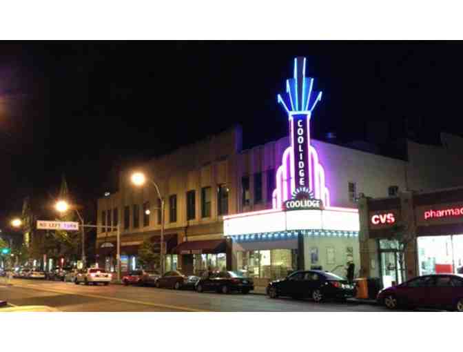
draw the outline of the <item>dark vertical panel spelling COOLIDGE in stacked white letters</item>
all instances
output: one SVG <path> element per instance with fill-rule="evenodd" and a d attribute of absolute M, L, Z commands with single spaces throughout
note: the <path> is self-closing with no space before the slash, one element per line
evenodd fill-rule
<path fill-rule="evenodd" d="M 294 166 L 296 170 L 296 188 L 309 187 L 309 146 L 307 145 L 307 115 L 293 115 Z"/>

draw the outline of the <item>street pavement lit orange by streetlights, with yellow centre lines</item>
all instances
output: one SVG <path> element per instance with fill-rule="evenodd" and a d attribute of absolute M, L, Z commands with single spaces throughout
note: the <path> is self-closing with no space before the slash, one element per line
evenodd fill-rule
<path fill-rule="evenodd" d="M 325 302 L 233 293 L 196 293 L 152 287 L 84 286 L 70 282 L 13 279 L 13 286 L 0 285 L 0 300 L 16 306 L 45 305 L 66 312 L 185 312 L 185 311 L 386 311 L 382 306 L 363 303 Z"/>

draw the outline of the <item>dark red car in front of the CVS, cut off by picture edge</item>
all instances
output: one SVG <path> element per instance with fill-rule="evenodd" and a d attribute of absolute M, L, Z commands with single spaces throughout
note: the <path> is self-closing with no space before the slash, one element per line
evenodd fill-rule
<path fill-rule="evenodd" d="M 418 276 L 380 291 L 377 301 L 389 309 L 407 306 L 463 312 L 463 275 Z"/>

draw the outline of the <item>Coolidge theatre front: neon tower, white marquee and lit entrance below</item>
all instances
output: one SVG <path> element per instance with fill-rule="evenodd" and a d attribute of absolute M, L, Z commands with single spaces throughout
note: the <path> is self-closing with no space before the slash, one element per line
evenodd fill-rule
<path fill-rule="evenodd" d="M 224 217 L 232 267 L 255 280 L 310 268 L 345 275 L 348 261 L 360 266 L 358 211 L 331 206 L 328 177 L 311 145 L 310 119 L 322 96 L 312 87 L 305 58 L 295 59 L 294 77 L 278 95 L 288 115 L 290 145 L 276 168 L 272 209 Z"/>

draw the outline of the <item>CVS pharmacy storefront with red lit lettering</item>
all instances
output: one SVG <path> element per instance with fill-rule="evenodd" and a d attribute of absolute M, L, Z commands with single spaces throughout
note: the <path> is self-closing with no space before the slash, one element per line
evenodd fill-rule
<path fill-rule="evenodd" d="M 381 277 L 384 286 L 417 275 L 462 271 L 463 188 L 364 198 L 359 206 L 362 268 Z M 401 268 L 397 240 L 403 237 L 410 242 Z"/>

